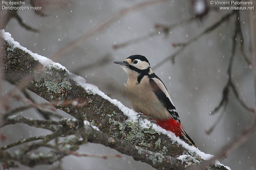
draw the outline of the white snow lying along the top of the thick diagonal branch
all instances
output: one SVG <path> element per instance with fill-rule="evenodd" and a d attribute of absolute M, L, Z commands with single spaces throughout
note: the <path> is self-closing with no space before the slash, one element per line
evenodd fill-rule
<path fill-rule="evenodd" d="M 115 104 L 128 118 L 129 120 L 132 121 L 138 121 L 138 117 L 137 117 L 137 112 L 135 112 L 132 109 L 129 109 L 127 107 L 125 107 L 121 102 L 117 101 L 116 99 L 111 99 L 110 97 L 108 97 L 107 95 L 105 95 L 102 91 L 99 90 L 99 88 L 95 85 L 86 83 L 85 79 L 77 76 L 75 74 L 70 73 L 66 67 L 62 66 L 59 63 L 53 62 L 51 59 L 48 59 L 42 55 L 36 54 L 36 53 L 32 53 L 30 50 L 28 50 L 26 47 L 20 46 L 19 42 L 14 41 L 14 39 L 12 38 L 11 34 L 9 32 L 4 32 L 4 30 L 0 30 L 0 34 L 1 36 L 8 42 L 14 44 L 15 47 L 20 48 L 21 50 L 29 53 L 32 57 L 34 57 L 36 60 L 38 60 L 41 64 L 43 64 L 44 66 L 56 66 L 62 69 L 65 69 L 70 78 L 72 78 L 74 81 L 77 82 L 77 84 L 79 84 L 80 86 L 82 86 L 87 92 L 91 92 L 93 94 L 97 94 L 99 96 L 101 96 L 102 98 L 108 100 L 110 103 Z M 177 142 L 179 145 L 182 145 L 184 148 L 186 148 L 190 153 L 196 153 L 197 155 L 199 155 L 202 159 L 204 160 L 208 160 L 211 159 L 213 157 L 213 155 L 211 154 L 207 154 L 204 153 L 202 151 L 200 151 L 198 148 L 196 148 L 195 146 L 190 146 L 187 143 L 185 143 L 183 140 L 181 140 L 179 137 L 176 137 L 175 134 L 171 131 L 166 131 L 165 129 L 163 129 L 162 127 L 156 125 L 156 124 L 152 124 L 150 121 L 148 121 L 147 119 L 143 119 L 143 120 L 139 120 L 140 124 L 143 128 L 149 128 L 150 126 L 152 126 L 153 129 L 155 129 L 156 131 L 159 131 L 165 135 L 167 135 L 169 138 L 171 138 L 173 141 Z M 91 125 L 90 122 L 88 121 L 84 121 L 84 124 L 86 125 Z M 94 129 L 99 130 L 98 127 L 91 125 Z M 222 165 L 220 164 L 219 161 L 215 161 L 216 164 Z M 228 170 L 231 170 L 228 166 L 225 166 Z"/>

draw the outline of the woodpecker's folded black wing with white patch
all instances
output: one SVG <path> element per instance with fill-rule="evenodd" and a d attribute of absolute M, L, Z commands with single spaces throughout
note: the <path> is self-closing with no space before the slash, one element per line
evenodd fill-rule
<path fill-rule="evenodd" d="M 164 86 L 163 81 L 161 81 L 155 73 L 148 75 L 149 83 L 156 94 L 158 100 L 164 105 L 164 107 L 169 111 L 174 120 L 180 122 L 179 115 L 175 109 L 175 106 L 172 103 L 172 99 L 168 93 L 168 90 Z"/>

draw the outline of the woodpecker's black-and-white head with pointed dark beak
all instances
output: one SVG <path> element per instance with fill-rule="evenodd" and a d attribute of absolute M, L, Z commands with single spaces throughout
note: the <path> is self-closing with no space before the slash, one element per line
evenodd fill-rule
<path fill-rule="evenodd" d="M 119 64 L 128 75 L 153 73 L 148 60 L 142 55 L 131 55 L 124 61 L 114 61 L 114 63 Z"/>

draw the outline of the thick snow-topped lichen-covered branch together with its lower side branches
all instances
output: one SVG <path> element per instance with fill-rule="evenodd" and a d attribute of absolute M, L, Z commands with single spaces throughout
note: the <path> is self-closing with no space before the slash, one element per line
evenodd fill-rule
<path fill-rule="evenodd" d="M 146 162 L 156 169 L 184 169 L 213 157 L 213 155 L 206 154 L 194 146 L 189 146 L 172 132 L 162 129 L 148 119 L 139 118 L 138 113 L 125 107 L 121 102 L 109 98 L 98 87 L 86 83 L 82 77 L 70 73 L 59 63 L 20 46 L 18 42 L 12 39 L 10 33 L 0 30 L 0 34 L 4 39 L 2 52 L 4 78 L 17 84 L 21 90 L 25 87 L 43 97 L 50 102 L 47 106 L 54 106 L 77 118 L 74 120 L 64 118 L 59 122 L 34 120 L 13 115 L 16 112 L 7 110 L 8 116 L 4 117 L 2 126 L 25 123 L 52 131 L 52 134 L 46 135 L 47 138 L 32 137 L 7 145 L 6 147 L 10 148 L 20 143 L 28 143 L 18 149 L 15 154 L 6 151 L 7 149 L 3 149 L 1 146 L 0 161 L 7 166 L 16 165 L 7 160 L 27 166 L 37 165 L 36 163 L 30 164 L 35 162 L 32 160 L 35 157 L 31 156 L 32 153 L 24 152 L 24 148 L 35 150 L 38 147 L 48 147 L 52 149 L 52 152 L 47 154 L 36 155 L 38 164 L 54 163 L 69 154 L 86 155 L 74 153 L 74 151 L 78 149 L 76 146 L 87 141 L 116 149 L 120 153 L 132 156 L 135 160 Z M 28 97 L 15 96 L 12 91 L 7 95 L 4 97 L 7 99 L 15 98 L 28 108 L 40 107 Z M 71 135 L 75 135 L 77 139 L 81 138 L 81 141 L 73 141 L 74 146 L 72 148 L 74 149 L 72 152 L 66 150 L 67 148 L 62 147 L 62 145 L 50 145 L 48 143 L 58 137 L 66 137 L 68 140 Z M 31 142 L 35 140 L 40 141 Z M 28 161 L 19 159 L 20 155 L 17 154 L 23 154 Z M 55 161 L 50 162 L 49 160 Z M 207 167 L 216 170 L 230 169 L 220 164 L 219 161 L 215 161 L 214 164 Z"/>

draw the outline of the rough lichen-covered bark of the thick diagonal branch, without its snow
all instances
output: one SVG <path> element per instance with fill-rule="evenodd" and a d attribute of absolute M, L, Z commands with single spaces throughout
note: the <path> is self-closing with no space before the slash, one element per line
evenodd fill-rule
<path fill-rule="evenodd" d="M 195 165 L 195 159 L 203 161 L 200 156 L 178 145 L 167 135 L 156 132 L 153 129 L 143 129 L 140 127 L 139 122 L 126 121 L 127 116 L 116 105 L 99 95 L 86 91 L 69 76 L 67 70 L 53 66 L 44 68 L 30 54 L 16 48 L 10 42 L 5 40 L 3 42 L 2 67 L 4 77 L 9 81 L 24 85 L 28 90 L 49 102 L 73 99 L 85 101 L 90 99 L 88 105 L 81 108 L 81 112 L 83 118 L 90 121 L 92 125 L 97 126 L 100 131 L 95 131 L 91 128 L 90 134 L 88 135 L 89 142 L 101 143 L 112 147 L 121 153 L 133 156 L 135 160 L 146 162 L 156 169 L 185 169 L 188 166 Z M 28 76 L 35 76 L 35 78 L 29 81 L 29 83 L 24 82 L 24 77 Z M 56 108 L 77 117 L 77 110 L 72 105 L 57 106 Z M 95 135 L 97 136 L 98 133 L 107 135 L 107 138 L 110 138 L 111 135 L 114 141 L 121 142 L 125 145 L 113 146 L 111 143 L 108 143 L 109 140 L 106 142 L 102 138 L 95 138 Z M 138 146 L 143 148 L 141 152 L 138 152 Z M 150 157 L 148 156 L 149 152 L 160 152 L 161 154 L 157 155 L 159 153 L 154 153 L 155 157 Z M 182 154 L 191 155 L 193 159 L 188 158 L 186 161 L 177 159 Z M 2 156 L 8 158 L 9 155 L 2 153 Z M 215 164 L 209 165 L 206 168 L 227 170 L 224 166 Z"/>

